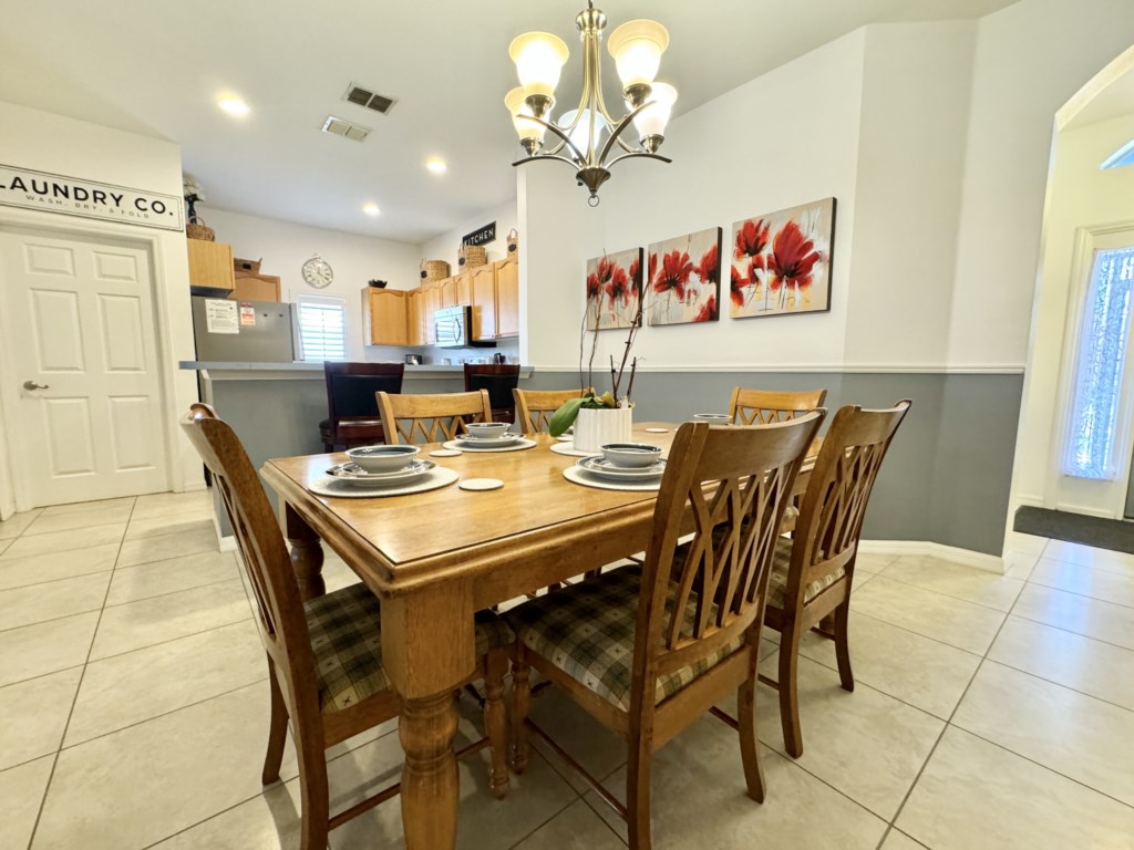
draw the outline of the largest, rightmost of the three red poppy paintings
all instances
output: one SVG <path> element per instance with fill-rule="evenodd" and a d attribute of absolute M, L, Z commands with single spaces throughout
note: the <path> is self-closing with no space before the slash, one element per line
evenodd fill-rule
<path fill-rule="evenodd" d="M 729 309 L 734 318 L 831 308 L 835 198 L 733 226 Z"/>

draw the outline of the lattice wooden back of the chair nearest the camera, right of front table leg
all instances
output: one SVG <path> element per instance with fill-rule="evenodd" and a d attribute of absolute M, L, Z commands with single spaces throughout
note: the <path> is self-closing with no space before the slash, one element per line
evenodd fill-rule
<path fill-rule="evenodd" d="M 759 628 L 780 519 L 824 414 L 678 428 L 643 564 L 631 716 L 652 711 L 658 675 Z"/>

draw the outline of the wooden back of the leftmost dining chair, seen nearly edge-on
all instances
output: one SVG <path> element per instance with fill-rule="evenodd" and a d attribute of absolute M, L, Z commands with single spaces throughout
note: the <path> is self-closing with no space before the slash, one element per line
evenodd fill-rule
<path fill-rule="evenodd" d="M 288 697 L 294 732 L 321 736 L 315 657 L 299 583 L 260 476 L 231 426 L 209 405 L 192 405 L 181 428 L 228 511 L 256 600 L 260 637 Z"/>

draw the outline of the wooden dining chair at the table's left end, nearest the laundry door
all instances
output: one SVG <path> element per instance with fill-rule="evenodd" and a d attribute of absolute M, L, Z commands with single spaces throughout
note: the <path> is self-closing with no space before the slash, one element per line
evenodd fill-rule
<path fill-rule="evenodd" d="M 382 665 L 378 597 L 358 583 L 304 602 L 276 515 L 236 433 L 201 403 L 191 406 L 181 426 L 220 490 L 256 602 L 271 691 L 261 781 L 268 785 L 279 779 L 290 723 L 299 762 L 301 847 L 325 850 L 330 830 L 399 791 L 395 784 L 330 814 L 325 750 L 398 716 L 398 695 Z M 479 662 L 468 681 L 484 679 L 488 738 L 457 755 L 488 742 L 489 785 L 502 798 L 508 789 L 503 675 L 514 635 L 489 613 L 477 614 L 475 634 Z"/>

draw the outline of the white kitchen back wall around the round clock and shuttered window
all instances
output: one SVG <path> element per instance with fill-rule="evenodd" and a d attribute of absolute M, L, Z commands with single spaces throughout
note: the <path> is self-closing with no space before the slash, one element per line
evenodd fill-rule
<path fill-rule="evenodd" d="M 415 288 L 421 258 L 417 245 L 213 210 L 208 205 L 198 206 L 197 214 L 217 231 L 217 241 L 232 246 L 234 256 L 263 257 L 260 271 L 279 275 L 285 301 L 295 301 L 299 295 L 330 295 L 346 300 L 350 359 L 403 359 L 401 349 L 363 345 L 361 292 L 372 279 L 387 281 L 390 289 Z M 315 253 L 335 270 L 335 280 L 325 289 L 312 289 L 303 280 L 303 264 Z"/>

